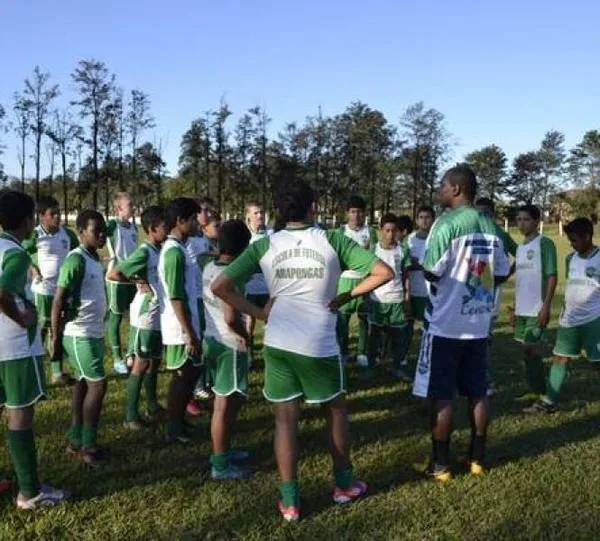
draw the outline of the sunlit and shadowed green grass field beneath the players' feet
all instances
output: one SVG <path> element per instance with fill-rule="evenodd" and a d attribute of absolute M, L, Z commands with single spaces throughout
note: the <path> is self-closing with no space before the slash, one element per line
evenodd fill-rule
<path fill-rule="evenodd" d="M 561 239 L 561 286 L 567 249 Z M 509 284 L 505 304 L 511 294 Z M 562 287 L 553 327 L 561 296 Z M 548 351 L 553 338 L 548 332 Z M 416 344 L 413 359 L 415 354 Z M 351 369 L 352 454 L 356 473 L 369 483 L 369 496 L 348 507 L 334 506 L 324 422 L 318 408 L 307 407 L 301 425 L 303 520 L 297 524 L 283 523 L 275 509 L 273 418 L 260 393 L 261 374 L 252 375 L 251 398 L 234 441 L 252 451 L 256 473 L 237 483 L 209 479 L 207 417 L 198 422 L 197 442 L 189 447 L 165 446 L 159 427 L 125 432 L 123 379 L 109 381 L 100 430 L 111 460 L 101 470 L 86 469 L 63 451 L 70 393 L 52 389 L 50 400 L 37 411 L 41 475 L 73 490 L 76 498 L 60 508 L 28 514 L 16 511 L 4 496 L 0 539 L 597 539 L 600 374 L 585 361 L 574 363 L 561 411 L 527 417 L 515 400 L 524 390 L 520 358 L 503 313 L 493 347 L 499 394 L 493 399 L 489 431 L 491 470 L 484 478 L 463 473 L 469 436 L 462 403 L 453 438 L 458 475 L 445 486 L 424 481 L 415 469 L 429 453 L 425 403 L 411 397 L 408 385 L 392 381 L 386 367 L 368 387 Z M 162 375 L 163 398 L 167 383 Z M 9 467 L 3 451 L 0 468 Z"/>

